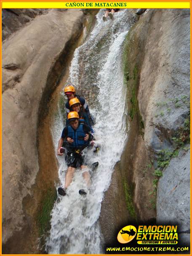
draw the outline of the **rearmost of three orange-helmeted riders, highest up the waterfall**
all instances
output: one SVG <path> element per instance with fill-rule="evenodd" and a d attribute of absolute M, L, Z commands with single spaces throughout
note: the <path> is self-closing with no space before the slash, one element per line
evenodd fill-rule
<path fill-rule="evenodd" d="M 82 105 L 82 107 L 85 109 L 85 112 L 88 114 L 88 118 L 89 118 L 89 122 L 90 122 L 91 126 L 93 126 L 94 122 L 93 122 L 93 118 L 91 117 L 91 114 L 89 112 L 87 102 L 85 101 L 85 99 L 83 97 L 80 97 L 79 95 L 75 94 L 75 87 L 73 85 L 67 85 L 64 88 L 64 94 L 67 96 L 67 102 L 65 103 L 65 109 L 66 109 L 67 115 L 70 112 L 69 100 L 77 98 L 80 101 L 80 104 Z"/>

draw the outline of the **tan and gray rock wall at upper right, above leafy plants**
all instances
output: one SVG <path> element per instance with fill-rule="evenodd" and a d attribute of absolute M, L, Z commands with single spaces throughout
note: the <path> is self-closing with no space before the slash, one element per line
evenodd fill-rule
<path fill-rule="evenodd" d="M 189 17 L 190 11 L 186 9 L 150 10 L 138 22 L 141 31 L 148 35 L 147 41 L 145 34 L 140 35 L 140 41 L 145 44 L 145 57 L 138 101 L 145 124 L 144 140 L 152 150 L 154 145 L 154 149 L 161 146 L 154 137 L 157 128 L 161 141 L 170 140 L 189 116 Z M 149 19 L 150 26 L 144 28 L 144 22 Z"/>

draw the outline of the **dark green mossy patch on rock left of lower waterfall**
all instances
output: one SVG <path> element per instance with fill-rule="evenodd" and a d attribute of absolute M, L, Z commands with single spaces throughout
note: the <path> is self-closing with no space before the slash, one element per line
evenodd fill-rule
<path fill-rule="evenodd" d="M 40 208 L 37 212 L 37 225 L 39 227 L 39 235 L 43 236 L 50 229 L 51 210 L 57 198 L 56 190 L 51 188 L 45 193 Z"/>

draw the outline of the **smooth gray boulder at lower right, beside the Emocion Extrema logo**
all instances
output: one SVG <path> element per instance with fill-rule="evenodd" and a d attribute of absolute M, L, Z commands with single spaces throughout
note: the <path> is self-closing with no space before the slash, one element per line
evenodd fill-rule
<path fill-rule="evenodd" d="M 189 147 L 190 145 L 187 145 Z M 190 242 L 190 150 L 181 150 L 159 179 L 157 222 L 178 223 L 179 240 Z"/>

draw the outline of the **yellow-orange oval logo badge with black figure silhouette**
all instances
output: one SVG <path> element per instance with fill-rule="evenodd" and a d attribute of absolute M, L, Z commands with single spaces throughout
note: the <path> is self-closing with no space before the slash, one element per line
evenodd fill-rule
<path fill-rule="evenodd" d="M 136 234 L 137 234 L 136 227 L 129 225 L 129 226 L 122 228 L 119 231 L 119 233 L 117 235 L 117 240 L 122 244 L 126 244 L 128 242 L 131 242 L 131 240 L 133 240 L 133 238 L 136 236 Z"/>

